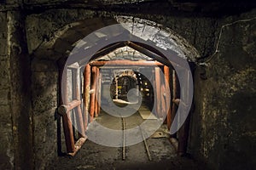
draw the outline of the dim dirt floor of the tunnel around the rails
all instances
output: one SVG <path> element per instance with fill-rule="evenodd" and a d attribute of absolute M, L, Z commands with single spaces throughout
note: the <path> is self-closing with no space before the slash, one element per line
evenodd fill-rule
<path fill-rule="evenodd" d="M 152 120 L 154 121 L 158 120 Z M 110 116 L 103 111 L 95 122 L 112 129 L 123 127 L 120 117 Z M 143 118 L 137 112 L 125 117 L 125 128 L 136 127 L 142 122 Z M 88 131 L 95 133 L 96 129 L 97 126 L 92 123 Z M 205 169 L 200 162 L 177 156 L 169 139 L 166 138 L 168 137 L 165 133 L 166 126 L 161 126 L 157 132 L 161 132 L 160 138 L 146 139 L 151 161 L 148 159 L 143 141 L 125 147 L 125 160 L 123 160 L 122 147 L 108 147 L 87 139 L 76 156 L 60 156 L 49 165 L 48 169 Z M 113 142 L 122 143 L 122 138 L 113 139 Z"/>

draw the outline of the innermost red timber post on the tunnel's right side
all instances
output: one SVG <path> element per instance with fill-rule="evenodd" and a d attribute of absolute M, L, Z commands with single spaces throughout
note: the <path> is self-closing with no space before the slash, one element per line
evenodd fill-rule
<path fill-rule="evenodd" d="M 160 67 L 154 67 L 154 74 L 155 74 L 155 90 L 156 90 L 156 100 L 154 102 L 156 105 L 156 112 L 159 117 L 162 117 L 161 113 L 161 79 L 160 79 Z"/>

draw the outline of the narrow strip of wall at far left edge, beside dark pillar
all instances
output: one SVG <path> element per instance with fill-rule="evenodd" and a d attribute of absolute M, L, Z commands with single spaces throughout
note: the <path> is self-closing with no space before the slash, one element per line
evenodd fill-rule
<path fill-rule="evenodd" d="M 11 120 L 10 66 L 7 44 L 7 14 L 0 13 L 0 169 L 14 166 L 14 145 Z"/>

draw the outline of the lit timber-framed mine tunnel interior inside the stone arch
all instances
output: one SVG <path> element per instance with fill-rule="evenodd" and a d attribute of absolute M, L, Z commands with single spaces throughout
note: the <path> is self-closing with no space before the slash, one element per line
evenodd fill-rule
<path fill-rule="evenodd" d="M 86 44 L 86 38 L 83 41 Z M 113 48 L 117 44 L 118 47 Z M 172 66 L 177 65 L 175 62 L 153 47 L 137 42 L 116 42 L 100 49 L 88 63 L 84 64 L 83 58 L 81 60 L 67 61 L 69 65 L 61 69 L 62 76 L 59 75 L 62 101 L 58 114 L 63 122 L 62 139 L 65 140 L 61 145 L 59 129 L 60 152 L 64 145 L 67 156 L 76 159 L 77 152 L 86 154 L 89 151 L 86 140 L 116 147 L 118 149 L 113 148 L 106 154 L 119 157 L 114 165 L 117 168 L 155 167 L 176 154 L 186 155 L 189 117 L 183 119 L 183 115 L 177 114 L 181 88 Z M 177 65 L 177 71 L 192 80 L 188 76 L 190 70 L 182 65 Z M 183 89 L 183 94 L 193 93 L 189 88 Z M 171 127 L 177 126 L 173 123 L 176 115 L 178 123 L 183 125 L 170 133 Z M 105 159 L 96 144 L 90 144 L 90 150 L 95 150 L 101 160 Z M 98 162 L 97 168 L 106 163 L 114 162 Z M 167 164 L 175 167 L 172 161 Z M 198 166 L 193 162 L 190 164 Z M 102 168 L 107 167 L 111 168 L 106 165 Z"/>

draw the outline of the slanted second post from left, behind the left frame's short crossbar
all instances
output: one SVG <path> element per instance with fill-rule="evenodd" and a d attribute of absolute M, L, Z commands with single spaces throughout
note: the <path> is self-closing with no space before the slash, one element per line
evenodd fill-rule
<path fill-rule="evenodd" d="M 75 97 L 76 99 L 81 100 L 81 92 L 80 92 L 80 69 L 78 68 L 76 70 L 76 81 L 75 81 L 75 89 L 76 89 L 76 94 Z M 82 104 L 81 104 L 82 105 Z M 77 107 L 77 115 L 76 115 L 76 121 L 78 124 L 78 130 L 79 130 L 79 138 L 85 137 L 84 133 L 84 120 L 83 120 L 83 115 L 82 115 L 82 110 L 81 110 L 81 105 Z"/>

